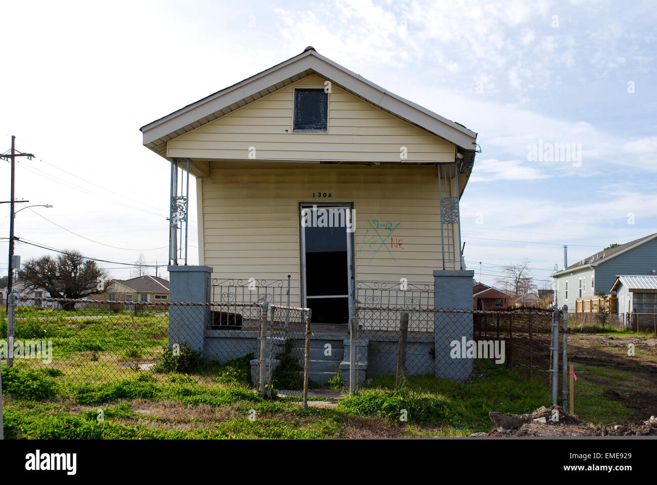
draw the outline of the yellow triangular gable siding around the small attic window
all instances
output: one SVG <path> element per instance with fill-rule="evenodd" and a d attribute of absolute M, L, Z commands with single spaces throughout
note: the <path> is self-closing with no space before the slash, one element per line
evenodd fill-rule
<path fill-rule="evenodd" d="M 333 85 L 328 133 L 293 133 L 295 87 L 324 87 L 307 76 L 168 141 L 167 156 L 214 160 L 453 162 L 455 146 Z M 287 131 L 287 133 L 286 133 Z M 411 198 L 415 198 L 411 196 Z"/>

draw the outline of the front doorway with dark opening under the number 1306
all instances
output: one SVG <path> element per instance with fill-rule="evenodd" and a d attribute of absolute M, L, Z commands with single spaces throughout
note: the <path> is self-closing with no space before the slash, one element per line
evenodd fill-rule
<path fill-rule="evenodd" d="M 325 206 L 316 207 L 316 210 L 317 216 L 309 216 L 307 211 L 313 212 L 309 207 L 302 208 L 300 214 L 305 305 L 312 310 L 313 323 L 346 324 L 349 321 L 351 232 L 344 221 L 350 220 L 346 219 L 350 217 L 346 216 L 350 208 Z M 311 224 L 308 225 L 308 221 Z"/>

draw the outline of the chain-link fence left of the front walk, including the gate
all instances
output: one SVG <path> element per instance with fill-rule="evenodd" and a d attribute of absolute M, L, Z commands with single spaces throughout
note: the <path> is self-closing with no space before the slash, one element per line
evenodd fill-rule
<path fill-rule="evenodd" d="M 47 308 L 11 300 L 0 320 L 0 359 L 8 367 L 64 377 L 72 386 L 141 379 L 239 385 L 270 397 L 275 390 L 275 398 L 307 394 L 307 308 L 45 298 Z"/>

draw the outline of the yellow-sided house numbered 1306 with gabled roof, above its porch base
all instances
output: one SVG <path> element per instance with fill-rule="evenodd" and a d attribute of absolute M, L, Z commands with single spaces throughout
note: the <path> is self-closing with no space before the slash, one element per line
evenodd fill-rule
<path fill-rule="evenodd" d="M 346 323 L 359 282 L 433 285 L 434 270 L 464 269 L 476 133 L 312 47 L 141 131 L 171 164 L 172 266 L 187 264 L 196 183 L 213 281 L 290 275 L 289 302 L 313 321 Z"/>

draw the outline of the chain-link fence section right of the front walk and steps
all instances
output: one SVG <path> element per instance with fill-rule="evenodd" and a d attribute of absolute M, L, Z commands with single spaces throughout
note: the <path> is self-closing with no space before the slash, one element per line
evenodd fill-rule
<path fill-rule="evenodd" d="M 394 376 L 438 378 L 491 391 L 525 381 L 549 403 L 553 372 L 552 310 L 507 312 L 358 306 L 355 392 L 364 381 Z M 522 396 L 518 396 L 522 399 Z"/>

